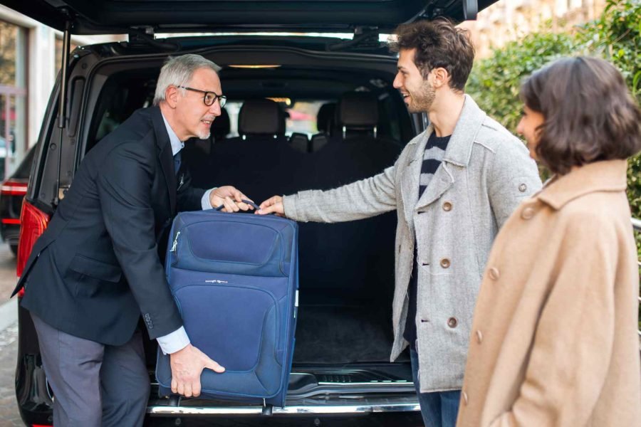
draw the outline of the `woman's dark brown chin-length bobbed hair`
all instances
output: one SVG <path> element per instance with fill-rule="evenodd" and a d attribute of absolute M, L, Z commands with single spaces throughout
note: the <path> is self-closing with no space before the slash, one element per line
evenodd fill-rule
<path fill-rule="evenodd" d="M 555 174 L 641 151 L 641 110 L 603 59 L 556 60 L 523 82 L 521 100 L 544 117 L 536 155 Z"/>

